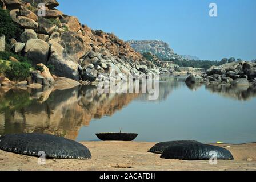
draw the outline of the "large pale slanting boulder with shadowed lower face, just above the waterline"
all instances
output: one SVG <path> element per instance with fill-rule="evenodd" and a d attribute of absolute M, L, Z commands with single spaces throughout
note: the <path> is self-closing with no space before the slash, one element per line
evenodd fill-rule
<path fill-rule="evenodd" d="M 51 44 L 50 58 L 47 64 L 54 66 L 55 75 L 79 80 L 78 64 L 70 59 L 66 50 L 60 44 Z"/>

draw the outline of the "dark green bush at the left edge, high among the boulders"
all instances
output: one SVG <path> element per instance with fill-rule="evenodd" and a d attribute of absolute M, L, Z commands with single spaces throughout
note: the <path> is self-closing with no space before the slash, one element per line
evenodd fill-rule
<path fill-rule="evenodd" d="M 6 39 L 17 38 L 22 30 L 13 22 L 9 11 L 0 8 L 0 35 L 5 35 Z"/>

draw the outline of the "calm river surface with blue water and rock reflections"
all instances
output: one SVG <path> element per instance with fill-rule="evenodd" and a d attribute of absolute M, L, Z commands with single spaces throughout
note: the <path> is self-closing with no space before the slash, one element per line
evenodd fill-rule
<path fill-rule="evenodd" d="M 139 133 L 137 141 L 256 141 L 256 89 L 184 81 L 185 77 L 163 76 L 156 101 L 148 100 L 147 94 L 98 94 L 94 86 L 0 88 L 0 135 L 37 132 L 84 141 L 122 128 Z"/>

